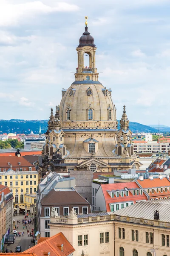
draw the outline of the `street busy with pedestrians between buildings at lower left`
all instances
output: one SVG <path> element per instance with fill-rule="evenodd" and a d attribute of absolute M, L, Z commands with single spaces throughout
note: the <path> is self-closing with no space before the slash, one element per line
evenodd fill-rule
<path fill-rule="evenodd" d="M 28 217 L 26 218 L 27 220 L 29 220 L 31 218 L 30 215 L 28 215 Z M 15 237 L 15 242 L 14 244 L 5 244 L 5 248 L 7 248 L 8 250 L 12 250 L 12 252 L 14 253 L 15 252 L 15 249 L 18 245 L 21 246 L 21 249 L 22 249 L 22 252 L 27 250 L 29 248 L 29 246 L 34 246 L 31 244 L 31 240 L 33 239 L 33 237 L 27 235 L 27 230 L 29 230 L 29 232 L 31 231 L 32 228 L 34 228 L 34 225 L 31 223 L 30 224 L 30 228 L 28 227 L 28 224 L 27 225 L 24 225 L 24 229 L 23 229 L 23 219 L 24 219 L 24 215 L 19 215 L 19 216 L 14 216 L 14 220 L 15 220 L 15 224 L 17 226 L 17 221 L 20 221 L 21 223 L 18 224 L 18 229 L 16 228 L 16 230 L 18 232 L 21 232 L 21 236 L 16 236 Z M 33 218 L 31 218 L 32 222 L 33 222 Z M 26 229 L 26 226 L 27 226 L 27 229 Z M 15 227 L 14 227 L 15 228 Z M 22 232 L 24 231 L 24 236 L 22 236 Z"/>

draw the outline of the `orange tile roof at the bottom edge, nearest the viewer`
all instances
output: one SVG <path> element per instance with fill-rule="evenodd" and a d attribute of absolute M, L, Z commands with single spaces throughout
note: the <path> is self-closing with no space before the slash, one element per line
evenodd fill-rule
<path fill-rule="evenodd" d="M 59 245 L 64 245 L 64 250 L 61 251 Z M 25 253 L 36 253 L 37 256 L 44 256 L 43 252 L 50 252 L 50 256 L 67 256 L 75 251 L 74 247 L 69 243 L 62 232 L 52 236 L 45 241 L 26 250 Z M 17 254 L 18 255 L 18 254 Z"/>

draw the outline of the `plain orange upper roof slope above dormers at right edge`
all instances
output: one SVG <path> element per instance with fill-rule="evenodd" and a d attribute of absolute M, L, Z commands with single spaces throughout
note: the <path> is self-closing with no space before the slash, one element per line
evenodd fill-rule
<path fill-rule="evenodd" d="M 157 178 L 157 179 L 153 179 L 153 180 L 150 180 L 150 179 L 138 180 L 138 183 L 144 189 L 170 186 L 170 181 L 167 179 L 167 177 L 165 177 L 163 179 Z"/>

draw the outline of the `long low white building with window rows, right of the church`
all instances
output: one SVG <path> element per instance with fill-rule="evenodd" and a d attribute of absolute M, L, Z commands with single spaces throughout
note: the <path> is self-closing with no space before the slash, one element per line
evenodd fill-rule
<path fill-rule="evenodd" d="M 150 141 L 146 143 L 132 143 L 135 153 L 159 153 L 159 143 Z M 169 143 L 160 143 L 160 153 L 168 153 Z"/>

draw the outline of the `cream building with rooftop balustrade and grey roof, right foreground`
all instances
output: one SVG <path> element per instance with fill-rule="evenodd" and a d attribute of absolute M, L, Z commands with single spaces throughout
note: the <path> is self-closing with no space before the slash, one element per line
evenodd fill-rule
<path fill-rule="evenodd" d="M 114 214 L 71 212 L 67 218 L 51 217 L 50 236 L 61 231 L 74 256 L 82 250 L 87 256 L 170 256 L 169 209 L 166 199 L 141 201 Z"/>

